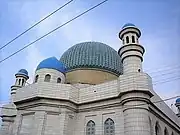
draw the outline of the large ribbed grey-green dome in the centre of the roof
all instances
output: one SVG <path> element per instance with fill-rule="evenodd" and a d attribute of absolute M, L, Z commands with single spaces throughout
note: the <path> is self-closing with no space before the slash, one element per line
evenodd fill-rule
<path fill-rule="evenodd" d="M 110 46 L 100 42 L 83 42 L 69 48 L 60 58 L 67 71 L 77 68 L 95 68 L 122 73 L 121 59 Z"/>

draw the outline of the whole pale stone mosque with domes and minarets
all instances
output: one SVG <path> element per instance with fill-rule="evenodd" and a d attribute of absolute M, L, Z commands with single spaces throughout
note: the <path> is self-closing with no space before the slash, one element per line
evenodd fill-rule
<path fill-rule="evenodd" d="M 28 72 L 19 70 L 11 102 L 1 112 L 1 135 L 180 135 L 175 114 L 143 72 L 141 31 L 125 24 L 118 51 L 100 42 L 69 48 Z"/>

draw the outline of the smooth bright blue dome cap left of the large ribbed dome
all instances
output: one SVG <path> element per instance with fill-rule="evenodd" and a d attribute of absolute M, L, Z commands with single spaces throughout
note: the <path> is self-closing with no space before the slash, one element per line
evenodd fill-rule
<path fill-rule="evenodd" d="M 62 73 L 66 72 L 65 65 L 62 62 L 58 61 L 58 59 L 56 59 L 55 57 L 50 57 L 41 61 L 37 66 L 36 71 L 42 68 L 55 69 Z"/>

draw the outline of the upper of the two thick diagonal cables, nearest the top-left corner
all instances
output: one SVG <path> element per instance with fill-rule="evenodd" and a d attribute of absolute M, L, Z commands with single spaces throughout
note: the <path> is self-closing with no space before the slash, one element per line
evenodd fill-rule
<path fill-rule="evenodd" d="M 48 14 L 46 17 L 44 17 L 43 19 L 41 19 L 40 21 L 36 22 L 34 25 L 32 25 L 31 27 L 29 27 L 27 30 L 25 30 L 24 32 L 20 33 L 19 35 L 17 35 L 15 38 L 13 38 L 12 40 L 10 40 L 9 42 L 7 42 L 5 45 L 3 45 L 2 47 L 0 47 L 0 50 L 2 50 L 3 48 L 5 48 L 6 46 L 8 46 L 10 43 L 12 43 L 13 41 L 15 41 L 16 39 L 18 39 L 19 37 L 21 37 L 22 35 L 24 35 L 25 33 L 27 33 L 29 30 L 31 30 L 32 28 L 34 28 L 35 26 L 37 26 L 38 24 L 40 24 L 41 22 L 43 22 L 44 20 L 46 20 L 47 18 L 49 18 L 50 16 L 52 16 L 53 14 L 55 14 L 56 12 L 58 12 L 59 10 L 61 10 L 62 8 L 64 8 L 65 6 L 67 6 L 68 4 L 70 4 L 73 0 L 68 1 L 67 3 L 65 3 L 64 5 L 62 5 L 61 7 L 59 7 L 58 9 L 54 10 L 53 12 L 51 12 L 50 14 Z"/>

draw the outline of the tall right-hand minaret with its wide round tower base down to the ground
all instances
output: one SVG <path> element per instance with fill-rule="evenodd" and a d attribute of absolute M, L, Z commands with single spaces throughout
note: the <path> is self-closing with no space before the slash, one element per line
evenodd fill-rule
<path fill-rule="evenodd" d="M 123 64 L 123 74 L 119 76 L 121 103 L 124 115 L 124 135 L 151 135 L 149 102 L 151 78 L 142 72 L 144 47 L 139 44 L 140 30 L 131 23 L 122 27 L 119 38 L 122 46 L 118 53 Z"/>

